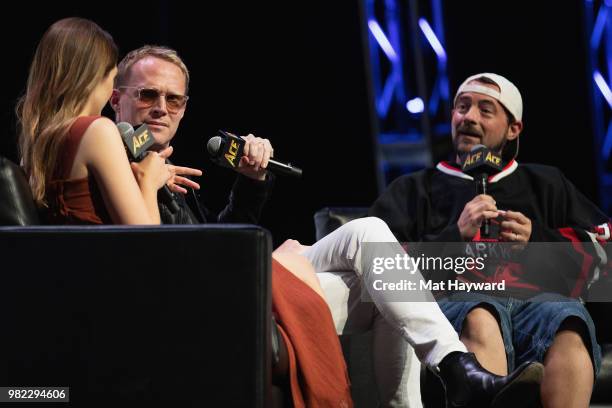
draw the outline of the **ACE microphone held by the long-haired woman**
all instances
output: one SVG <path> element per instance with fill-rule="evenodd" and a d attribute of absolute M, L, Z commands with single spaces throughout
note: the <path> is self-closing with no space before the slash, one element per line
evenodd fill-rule
<path fill-rule="evenodd" d="M 125 146 L 125 150 L 128 153 L 130 161 L 141 161 L 149 148 L 155 143 L 155 139 L 151 135 L 146 124 L 143 124 L 134 130 L 132 125 L 127 122 L 117 123 L 117 128 L 121 134 L 121 139 Z M 164 185 L 158 191 L 160 200 L 172 211 L 176 213 L 179 211 L 178 203 L 174 197 L 174 194 L 167 185 Z"/>

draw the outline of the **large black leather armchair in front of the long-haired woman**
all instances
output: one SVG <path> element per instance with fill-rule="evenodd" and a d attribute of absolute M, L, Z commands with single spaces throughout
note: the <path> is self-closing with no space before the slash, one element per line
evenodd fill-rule
<path fill-rule="evenodd" d="M 74 407 L 283 406 L 268 231 L 38 223 L 0 158 L 0 384 L 70 387 Z"/>

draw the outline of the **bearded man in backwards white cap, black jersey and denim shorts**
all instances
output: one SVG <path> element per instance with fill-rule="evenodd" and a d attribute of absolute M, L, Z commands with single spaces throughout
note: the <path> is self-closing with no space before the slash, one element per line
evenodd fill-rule
<path fill-rule="evenodd" d="M 522 113 L 521 94 L 506 78 L 483 73 L 466 79 L 452 110 L 454 160 L 398 178 L 370 215 L 383 219 L 400 242 L 481 241 L 487 220 L 498 222 L 496 240 L 512 245 L 610 240 L 609 217 L 558 169 L 517 163 Z M 488 178 L 487 194 L 476 194 L 474 179 L 462 172 L 463 158 L 477 145 L 505 159 Z M 555 272 L 546 271 L 553 274 L 547 279 L 556 279 Z M 468 275 L 462 279 L 475 280 Z M 529 273 L 505 271 L 501 278 L 522 296 L 462 292 L 440 301 L 461 340 L 499 375 L 523 361 L 542 362 L 545 407 L 588 406 L 601 351 L 592 319 L 575 299 L 585 280 L 561 293 Z"/>

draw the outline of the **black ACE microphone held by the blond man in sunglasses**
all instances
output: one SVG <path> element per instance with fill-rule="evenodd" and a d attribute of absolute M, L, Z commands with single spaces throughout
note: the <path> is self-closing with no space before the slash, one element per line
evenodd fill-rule
<path fill-rule="evenodd" d="M 222 136 L 211 137 L 206 145 L 206 150 L 208 150 L 208 154 L 214 163 L 235 170 L 240 163 L 240 159 L 244 156 L 246 140 L 223 130 L 219 130 L 219 133 Z M 293 166 L 291 163 L 281 163 L 272 159 L 268 160 L 267 170 L 293 177 L 302 176 L 302 169 Z"/>

